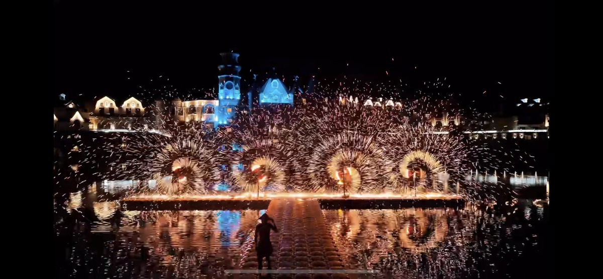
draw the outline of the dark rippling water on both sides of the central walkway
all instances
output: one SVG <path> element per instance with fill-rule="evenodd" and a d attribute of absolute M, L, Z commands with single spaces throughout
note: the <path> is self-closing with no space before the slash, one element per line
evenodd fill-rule
<path fill-rule="evenodd" d="M 109 196 L 55 194 L 55 278 L 219 278 L 239 268 L 262 214 L 120 211 Z M 345 267 L 377 278 L 549 277 L 548 205 L 534 200 L 323 214 Z"/>

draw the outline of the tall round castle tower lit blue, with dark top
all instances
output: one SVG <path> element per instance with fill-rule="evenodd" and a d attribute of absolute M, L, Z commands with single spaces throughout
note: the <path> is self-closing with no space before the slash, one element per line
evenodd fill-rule
<path fill-rule="evenodd" d="M 222 65 L 218 66 L 218 100 L 219 106 L 216 116 L 216 126 L 227 125 L 232 122 L 236 107 L 241 101 L 241 77 L 239 71 L 238 53 L 221 53 Z"/>

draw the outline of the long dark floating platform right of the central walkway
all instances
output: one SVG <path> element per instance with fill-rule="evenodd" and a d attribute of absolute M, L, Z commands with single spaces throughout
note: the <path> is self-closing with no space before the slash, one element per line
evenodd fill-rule
<path fill-rule="evenodd" d="M 367 199 L 349 197 L 347 199 L 318 199 L 323 209 L 399 209 L 399 208 L 464 208 L 463 197 L 438 198 L 387 198 Z"/>

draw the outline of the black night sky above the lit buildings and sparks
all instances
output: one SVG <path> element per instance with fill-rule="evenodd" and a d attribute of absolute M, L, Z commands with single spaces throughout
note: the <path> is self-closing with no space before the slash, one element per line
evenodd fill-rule
<path fill-rule="evenodd" d="M 139 94 L 139 86 L 210 89 L 218 53 L 234 50 L 246 80 L 274 66 L 289 79 L 420 85 L 446 77 L 466 98 L 548 99 L 548 2 L 485 2 L 326 11 L 303 2 L 55 1 L 54 93 L 119 98 Z"/>

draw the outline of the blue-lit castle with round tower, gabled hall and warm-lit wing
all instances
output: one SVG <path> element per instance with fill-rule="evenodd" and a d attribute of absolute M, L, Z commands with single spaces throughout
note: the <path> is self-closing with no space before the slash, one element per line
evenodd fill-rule
<path fill-rule="evenodd" d="M 241 98 L 241 66 L 238 53 L 221 53 L 222 65 L 218 66 L 218 100 L 172 101 L 175 118 L 183 123 L 203 123 L 207 129 L 227 126 L 235 120 L 236 111 L 251 111 L 257 106 L 294 104 L 295 86 L 289 90 L 276 75 L 268 78 L 263 86 L 256 85 L 256 75 L 244 99 Z"/>

